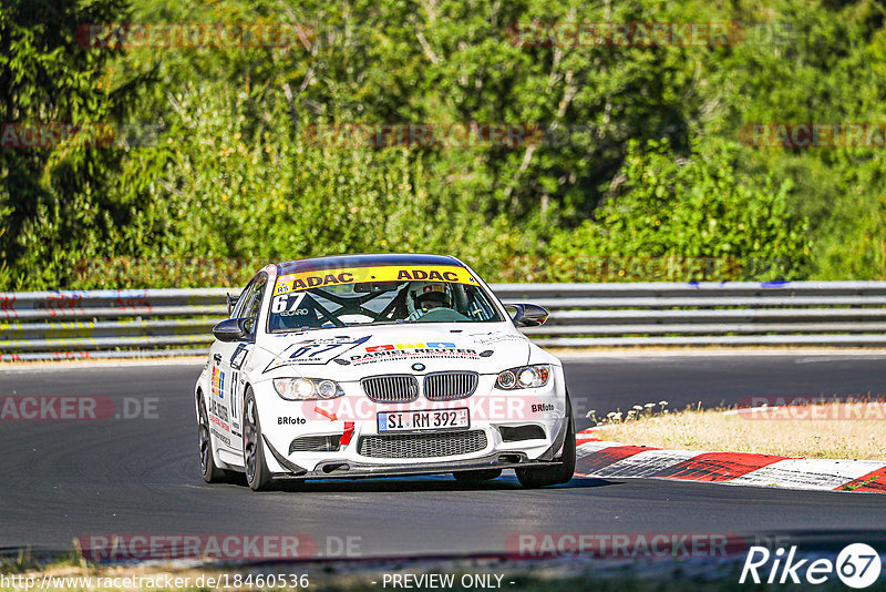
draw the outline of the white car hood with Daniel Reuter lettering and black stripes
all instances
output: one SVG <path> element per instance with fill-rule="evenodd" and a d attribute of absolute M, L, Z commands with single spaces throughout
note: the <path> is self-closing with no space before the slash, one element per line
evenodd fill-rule
<path fill-rule="evenodd" d="M 414 371 L 497 374 L 527 364 L 530 348 L 528 338 L 502 324 L 347 327 L 267 335 L 258 345 L 255 361 L 265 376 L 341 381 Z"/>

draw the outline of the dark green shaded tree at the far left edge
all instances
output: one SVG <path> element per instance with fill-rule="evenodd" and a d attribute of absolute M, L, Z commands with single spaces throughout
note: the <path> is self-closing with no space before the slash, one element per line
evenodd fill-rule
<path fill-rule="evenodd" d="M 76 42 L 82 23 L 126 20 L 124 0 L 4 0 L 0 6 L 0 259 L 9 287 L 63 285 L 74 254 L 114 242 L 133 204 L 105 191 L 122 153 L 61 142 L 48 132 L 41 147 L 24 146 L 24 129 L 114 125 L 126 116 L 141 82 L 107 88 L 113 51 Z M 10 147 L 19 145 L 19 147 Z"/>

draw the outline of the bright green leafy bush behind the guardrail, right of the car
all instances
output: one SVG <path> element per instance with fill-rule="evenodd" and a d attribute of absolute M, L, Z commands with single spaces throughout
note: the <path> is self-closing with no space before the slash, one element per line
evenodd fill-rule
<path fill-rule="evenodd" d="M 554 278 L 599 279 L 590 262 L 606 257 L 670 259 L 672 277 L 661 279 L 796 278 L 810 245 L 805 221 L 792 220 L 787 210 L 791 184 L 741 178 L 733 165 L 739 152 L 727 144 L 674 159 L 667 142 L 649 142 L 646 150 L 631 142 L 595 220 L 555 237 Z M 708 269 L 687 266 L 687 257 L 720 262 L 717 271 L 735 275 L 704 277 Z"/>

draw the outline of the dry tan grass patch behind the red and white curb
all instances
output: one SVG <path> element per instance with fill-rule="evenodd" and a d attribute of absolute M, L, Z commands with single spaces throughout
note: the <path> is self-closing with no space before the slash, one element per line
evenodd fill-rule
<path fill-rule="evenodd" d="M 601 439 L 637 446 L 886 460 L 886 404 L 879 401 L 756 410 L 663 410 L 624 422 L 610 417 L 604 425 Z"/>

